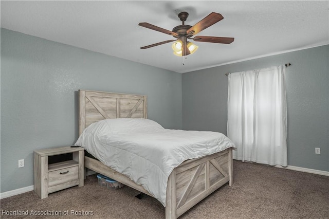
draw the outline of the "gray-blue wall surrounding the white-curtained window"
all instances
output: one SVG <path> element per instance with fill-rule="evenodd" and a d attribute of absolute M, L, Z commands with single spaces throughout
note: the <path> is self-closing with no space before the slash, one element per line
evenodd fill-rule
<path fill-rule="evenodd" d="M 286 69 L 288 165 L 329 171 L 329 46 L 183 74 L 183 129 L 226 134 L 227 72 L 291 63 Z M 321 148 L 321 154 L 315 154 Z"/>

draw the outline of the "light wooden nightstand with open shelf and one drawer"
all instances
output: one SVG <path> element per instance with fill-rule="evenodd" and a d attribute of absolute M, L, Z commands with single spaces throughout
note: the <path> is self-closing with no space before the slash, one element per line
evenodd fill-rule
<path fill-rule="evenodd" d="M 72 153 L 72 159 L 48 165 L 48 157 Z M 34 192 L 41 198 L 72 186 L 83 186 L 84 149 L 51 148 L 34 151 Z"/>

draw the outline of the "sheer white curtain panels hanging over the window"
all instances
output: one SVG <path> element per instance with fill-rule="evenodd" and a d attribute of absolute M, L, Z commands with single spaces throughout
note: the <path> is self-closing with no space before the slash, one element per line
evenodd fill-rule
<path fill-rule="evenodd" d="M 227 136 L 233 159 L 287 166 L 285 67 L 228 76 Z"/>

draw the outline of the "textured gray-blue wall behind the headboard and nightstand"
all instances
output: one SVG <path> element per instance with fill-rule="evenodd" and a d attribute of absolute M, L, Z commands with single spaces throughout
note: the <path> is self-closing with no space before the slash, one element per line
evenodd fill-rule
<path fill-rule="evenodd" d="M 181 74 L 1 29 L 1 192 L 33 185 L 34 150 L 75 143 L 79 89 L 147 95 L 182 128 Z"/>

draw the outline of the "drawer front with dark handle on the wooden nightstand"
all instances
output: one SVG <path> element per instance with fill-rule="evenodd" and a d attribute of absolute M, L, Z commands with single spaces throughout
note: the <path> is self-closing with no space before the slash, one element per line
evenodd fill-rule
<path fill-rule="evenodd" d="M 79 178 L 78 166 L 48 172 L 48 187 Z"/>

